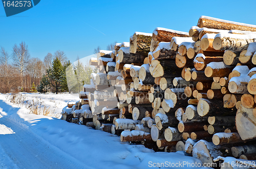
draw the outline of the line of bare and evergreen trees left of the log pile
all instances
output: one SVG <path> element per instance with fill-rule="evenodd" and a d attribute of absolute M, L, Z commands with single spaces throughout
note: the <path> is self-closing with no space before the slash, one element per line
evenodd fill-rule
<path fill-rule="evenodd" d="M 1 46 L 0 70 L 1 93 L 79 92 L 84 84 L 90 84 L 90 75 L 96 71 L 79 60 L 73 65 L 59 50 L 48 53 L 44 62 L 30 57 L 25 42 L 14 44 L 11 54 Z"/>

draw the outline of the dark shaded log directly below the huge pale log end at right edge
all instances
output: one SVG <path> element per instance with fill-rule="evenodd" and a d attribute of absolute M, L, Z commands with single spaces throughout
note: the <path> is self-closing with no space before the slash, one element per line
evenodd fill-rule
<path fill-rule="evenodd" d="M 242 154 L 247 155 L 247 154 L 256 153 L 256 145 L 250 144 L 250 145 L 232 147 L 231 152 L 233 157 L 239 157 Z"/>

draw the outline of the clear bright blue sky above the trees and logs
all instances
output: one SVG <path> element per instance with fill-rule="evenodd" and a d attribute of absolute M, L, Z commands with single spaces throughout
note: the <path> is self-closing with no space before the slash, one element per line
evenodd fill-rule
<path fill-rule="evenodd" d="M 32 9 L 6 17 L 0 4 L 0 46 L 12 53 L 25 41 L 31 57 L 64 51 L 71 62 L 134 32 L 156 27 L 188 32 L 201 15 L 256 25 L 256 1 L 67 1 L 41 0 Z"/>

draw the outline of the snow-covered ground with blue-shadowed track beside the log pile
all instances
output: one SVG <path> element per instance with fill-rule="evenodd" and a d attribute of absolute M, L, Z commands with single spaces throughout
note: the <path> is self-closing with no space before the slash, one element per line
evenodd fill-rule
<path fill-rule="evenodd" d="M 52 117 L 30 114 L 28 103 L 13 104 L 7 101 L 10 96 L 0 94 L 0 168 L 201 168 L 183 165 L 202 163 L 182 152 L 154 152 L 58 119 L 69 101 L 79 100 L 77 96 L 27 93 L 24 97 L 30 105 L 41 103 L 40 111 L 45 105 Z"/>

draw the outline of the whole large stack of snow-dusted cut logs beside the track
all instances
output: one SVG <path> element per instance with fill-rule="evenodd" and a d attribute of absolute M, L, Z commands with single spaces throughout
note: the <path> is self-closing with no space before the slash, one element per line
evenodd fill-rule
<path fill-rule="evenodd" d="M 82 102 L 64 108 L 62 117 L 156 151 L 185 151 L 203 163 L 218 156 L 256 160 L 253 31 L 256 26 L 202 16 L 189 33 L 135 32 L 130 44 L 91 58 L 98 73 L 84 85 Z"/>

